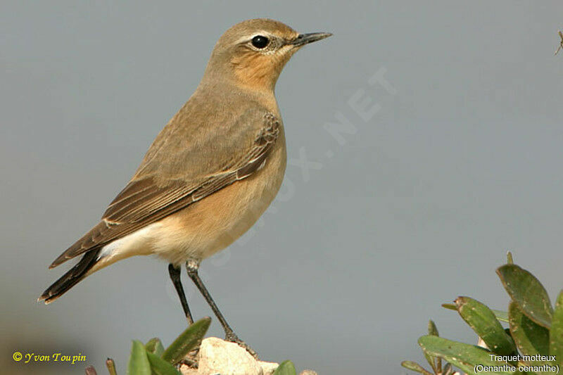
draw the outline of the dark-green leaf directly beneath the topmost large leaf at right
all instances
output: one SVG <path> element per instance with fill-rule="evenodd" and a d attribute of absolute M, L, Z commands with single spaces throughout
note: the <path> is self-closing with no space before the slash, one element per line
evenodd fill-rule
<path fill-rule="evenodd" d="M 522 355 L 547 355 L 550 331 L 526 317 L 512 301 L 508 307 L 510 334 Z"/>

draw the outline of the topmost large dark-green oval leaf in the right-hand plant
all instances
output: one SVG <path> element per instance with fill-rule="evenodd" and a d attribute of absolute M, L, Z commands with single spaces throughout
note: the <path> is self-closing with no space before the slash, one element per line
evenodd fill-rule
<path fill-rule="evenodd" d="M 498 267 L 497 274 L 505 286 L 510 298 L 516 302 L 522 312 L 540 326 L 550 328 L 553 316 L 548 292 L 536 277 L 517 265 Z"/>

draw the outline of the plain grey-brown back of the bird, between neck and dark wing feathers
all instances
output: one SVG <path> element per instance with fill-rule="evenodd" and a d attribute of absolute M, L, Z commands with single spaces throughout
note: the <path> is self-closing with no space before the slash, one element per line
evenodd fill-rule
<path fill-rule="evenodd" d="M 273 99 L 273 100 L 272 100 Z M 279 117 L 275 98 L 215 84 L 198 87 L 148 149 L 134 179 L 148 175 L 196 181 L 246 152 L 264 115 Z"/>

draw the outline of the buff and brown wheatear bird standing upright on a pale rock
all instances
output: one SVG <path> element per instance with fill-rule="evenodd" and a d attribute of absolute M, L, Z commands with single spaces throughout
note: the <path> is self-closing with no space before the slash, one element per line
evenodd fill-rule
<path fill-rule="evenodd" d="M 277 195 L 286 169 L 277 79 L 296 51 L 330 37 L 301 34 L 277 20 L 237 23 L 215 44 L 194 94 L 167 122 L 132 179 L 98 224 L 49 268 L 81 256 L 42 293 L 49 304 L 118 260 L 157 255 L 189 324 L 181 267 L 210 305 L 225 339 L 255 352 L 224 319 L 198 275 L 202 260 L 250 229 Z"/>

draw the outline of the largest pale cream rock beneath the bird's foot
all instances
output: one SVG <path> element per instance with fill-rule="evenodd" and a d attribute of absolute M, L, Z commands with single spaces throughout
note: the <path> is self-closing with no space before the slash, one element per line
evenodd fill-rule
<path fill-rule="evenodd" d="M 246 349 L 220 338 L 205 338 L 199 349 L 198 375 L 264 375 Z"/>

